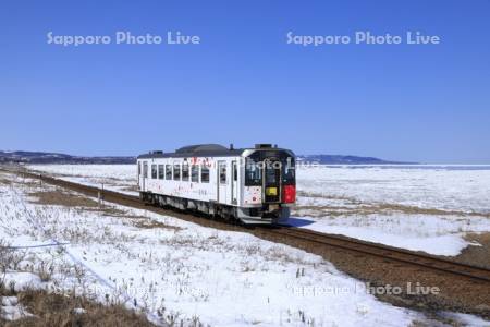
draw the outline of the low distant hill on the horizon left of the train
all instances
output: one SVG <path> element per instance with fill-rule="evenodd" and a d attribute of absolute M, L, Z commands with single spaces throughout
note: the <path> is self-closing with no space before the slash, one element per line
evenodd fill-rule
<path fill-rule="evenodd" d="M 40 152 L 2 152 L 0 162 L 23 164 L 135 164 L 136 157 L 82 157 Z"/>

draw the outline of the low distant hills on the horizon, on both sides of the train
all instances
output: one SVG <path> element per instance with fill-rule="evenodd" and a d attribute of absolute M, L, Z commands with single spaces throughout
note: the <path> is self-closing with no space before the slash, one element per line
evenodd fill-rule
<path fill-rule="evenodd" d="M 298 161 L 318 162 L 322 165 L 401 165 L 415 162 L 388 161 L 373 157 L 341 155 L 303 155 Z M 83 157 L 57 153 L 41 152 L 2 152 L 0 162 L 24 164 L 135 164 L 136 157 Z"/>

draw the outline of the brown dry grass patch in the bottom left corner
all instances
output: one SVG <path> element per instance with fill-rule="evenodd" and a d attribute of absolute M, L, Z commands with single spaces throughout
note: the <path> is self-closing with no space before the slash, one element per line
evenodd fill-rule
<path fill-rule="evenodd" d="M 121 304 L 103 305 L 87 298 L 34 290 L 13 295 L 17 296 L 19 303 L 34 316 L 14 322 L 0 319 L 1 326 L 155 326 L 146 317 L 125 308 Z M 75 308 L 83 308 L 85 313 L 77 313 Z"/>

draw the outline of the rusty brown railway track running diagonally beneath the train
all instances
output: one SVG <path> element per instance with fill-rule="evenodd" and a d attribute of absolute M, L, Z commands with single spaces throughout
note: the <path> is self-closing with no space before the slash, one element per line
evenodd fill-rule
<path fill-rule="evenodd" d="M 11 171 L 12 172 L 12 171 Z M 62 186 L 65 189 L 70 189 L 72 191 L 76 191 L 89 196 L 95 196 L 102 198 L 108 202 L 113 202 L 122 205 L 128 205 L 137 208 L 145 208 L 145 205 L 138 196 L 123 194 L 114 191 L 108 191 L 98 189 L 95 186 L 83 185 L 74 182 L 69 182 L 60 179 L 54 179 L 52 177 L 36 174 L 33 172 L 19 172 L 27 178 L 38 179 L 41 182 L 46 182 L 49 184 Z M 162 214 L 172 215 L 173 211 L 161 209 Z M 177 218 L 182 218 L 184 216 L 192 216 L 191 214 L 176 214 Z M 194 217 L 194 216 L 192 216 Z M 196 218 L 196 217 L 194 217 Z M 198 218 L 196 218 L 198 219 Z M 224 222 L 223 222 L 224 223 Z M 382 258 L 384 261 L 402 263 L 404 265 L 417 266 L 424 269 L 436 270 L 442 274 L 450 274 L 453 276 L 458 276 L 462 278 L 470 279 L 473 281 L 477 281 L 480 283 L 485 283 L 488 286 L 490 283 L 490 269 L 478 267 L 474 265 L 468 265 L 464 263 L 453 262 L 450 259 L 431 256 L 428 254 L 422 254 L 418 252 L 412 252 L 408 250 L 403 250 L 399 247 L 392 247 L 388 245 L 382 245 L 378 243 L 370 243 L 360 240 L 350 239 L 335 234 L 326 234 L 321 232 L 316 232 L 306 229 L 299 229 L 295 227 L 281 226 L 277 229 L 260 229 L 261 232 L 270 233 L 272 235 L 279 235 L 281 238 L 294 238 L 296 240 L 301 240 L 303 242 L 315 243 L 320 246 L 329 246 L 332 249 L 347 251 L 351 253 L 357 253 L 366 256 L 373 256 L 378 258 Z"/>

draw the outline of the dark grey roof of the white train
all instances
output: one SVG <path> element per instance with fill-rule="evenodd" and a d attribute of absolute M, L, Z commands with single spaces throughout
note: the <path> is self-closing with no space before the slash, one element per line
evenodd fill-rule
<path fill-rule="evenodd" d="M 284 150 L 272 147 L 271 144 L 256 144 L 255 148 L 233 148 L 222 146 L 220 144 L 196 144 L 187 145 L 177 148 L 174 153 L 163 153 L 163 152 L 150 152 L 148 154 L 139 155 L 138 159 L 151 159 L 151 158 L 179 158 L 179 157 L 235 157 L 241 156 L 245 150 L 248 149 L 272 149 L 272 150 Z"/>

